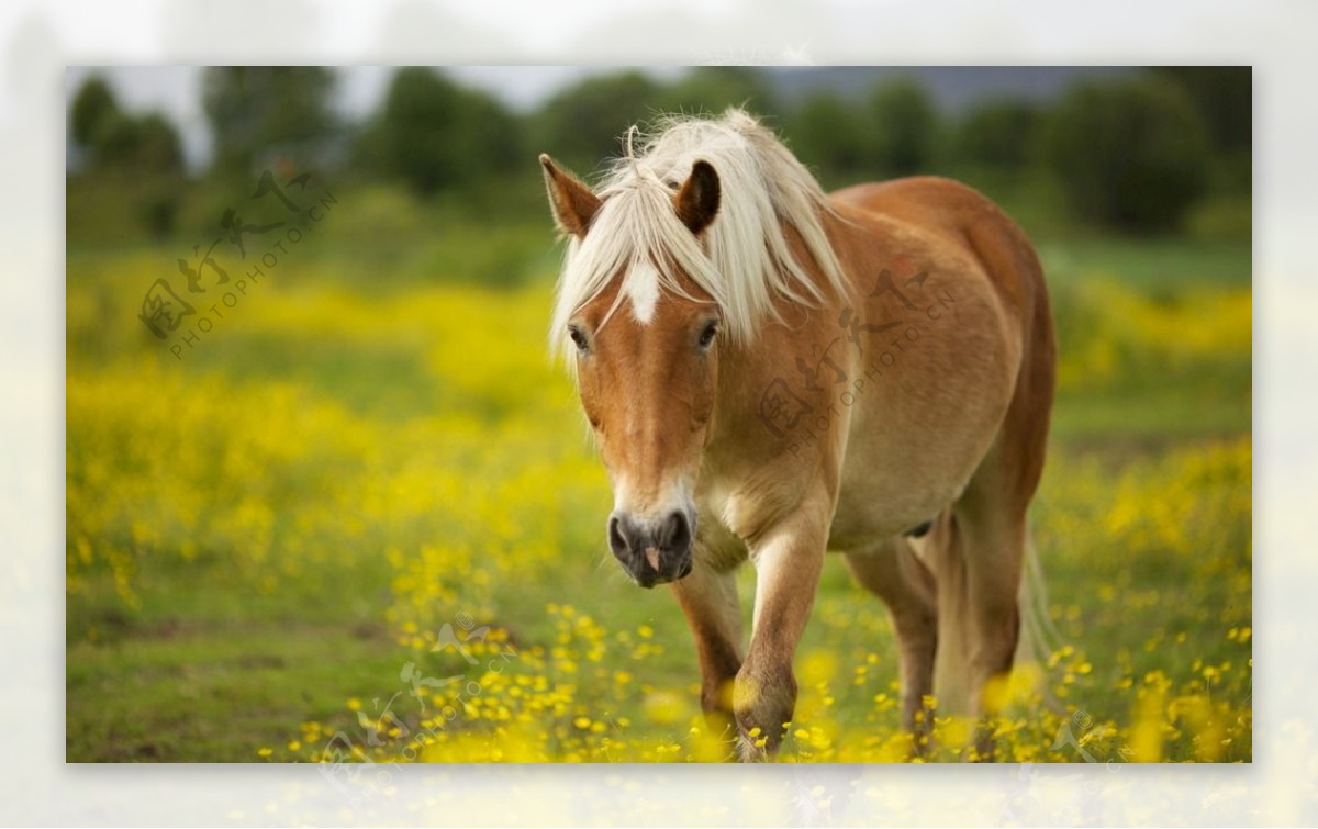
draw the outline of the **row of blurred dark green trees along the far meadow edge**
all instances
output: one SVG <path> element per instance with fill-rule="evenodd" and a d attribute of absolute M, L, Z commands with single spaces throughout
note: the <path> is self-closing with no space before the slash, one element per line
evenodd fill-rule
<path fill-rule="evenodd" d="M 1085 79 L 1058 99 L 983 100 L 957 116 L 916 78 L 859 95 L 817 91 L 784 100 L 760 70 L 700 67 L 672 80 L 639 71 L 588 76 L 532 112 L 442 70 L 397 70 L 377 109 L 348 121 L 322 67 L 212 67 L 202 104 L 214 137 L 200 179 L 246 178 L 275 159 L 361 181 L 394 181 L 419 198 L 490 182 L 538 187 L 548 150 L 583 174 L 617 156 L 619 134 L 656 113 L 745 105 L 779 130 L 826 186 L 966 167 L 1045 171 L 1083 221 L 1123 231 L 1174 229 L 1213 192 L 1248 195 L 1248 67 L 1156 67 Z M 88 76 L 69 111 L 80 158 L 71 177 L 133 182 L 145 227 L 167 235 L 188 175 L 175 127 L 132 115 L 104 78 Z"/>

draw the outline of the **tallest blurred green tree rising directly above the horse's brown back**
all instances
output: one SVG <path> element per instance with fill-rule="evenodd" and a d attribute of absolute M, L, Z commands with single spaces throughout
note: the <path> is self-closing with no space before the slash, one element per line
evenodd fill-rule
<path fill-rule="evenodd" d="M 869 99 L 878 170 L 886 175 L 929 173 L 938 152 L 938 112 L 917 80 L 879 83 Z"/>

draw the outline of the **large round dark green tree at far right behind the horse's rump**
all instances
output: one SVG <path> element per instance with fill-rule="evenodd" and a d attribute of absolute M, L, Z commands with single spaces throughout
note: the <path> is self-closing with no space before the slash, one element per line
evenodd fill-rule
<path fill-rule="evenodd" d="M 1073 87 L 1045 153 L 1075 211 L 1139 231 L 1176 227 L 1207 182 L 1207 134 L 1189 95 L 1156 75 Z"/>

